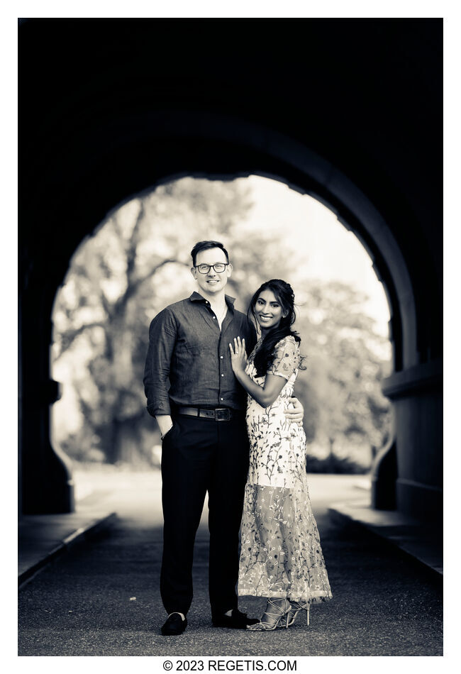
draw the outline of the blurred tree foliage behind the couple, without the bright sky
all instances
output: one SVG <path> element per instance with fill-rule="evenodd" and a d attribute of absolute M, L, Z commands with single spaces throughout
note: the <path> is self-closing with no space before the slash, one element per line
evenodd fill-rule
<path fill-rule="evenodd" d="M 194 289 L 190 250 L 205 238 L 229 250 L 228 292 L 240 310 L 274 269 L 293 285 L 300 304 L 295 327 L 308 356 L 296 394 L 311 446 L 326 447 L 333 465 L 341 443 L 380 448 L 387 441 L 389 405 L 379 390 L 385 341 L 362 313 L 363 297 L 343 284 L 296 277 L 284 263 L 283 233 L 245 228 L 251 208 L 242 181 L 184 178 L 113 211 L 77 250 L 55 302 L 53 346 L 55 376 L 62 372 L 72 382 L 80 414 L 72 429 L 64 415 L 55 424 L 57 441 L 72 457 L 151 460 L 156 424 L 143 392 L 148 326 Z"/>

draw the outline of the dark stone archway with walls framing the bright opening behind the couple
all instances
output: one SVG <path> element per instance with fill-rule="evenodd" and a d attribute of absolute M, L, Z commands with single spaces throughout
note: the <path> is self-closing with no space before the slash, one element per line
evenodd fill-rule
<path fill-rule="evenodd" d="M 436 141 L 428 137 L 421 160 L 420 138 L 409 126 L 411 120 L 418 130 L 415 115 L 424 101 L 424 123 L 432 120 L 437 128 L 436 102 L 432 108 L 427 102 L 438 101 L 437 91 L 428 96 L 428 89 L 436 87 L 433 71 L 429 67 L 423 75 L 426 70 L 420 63 L 438 63 L 435 27 L 412 22 L 406 31 L 400 23 L 367 23 L 370 34 L 365 35 L 365 24 L 357 24 L 355 31 L 370 53 L 364 62 L 360 45 L 355 50 L 341 25 L 317 23 L 310 31 L 313 53 L 323 42 L 332 45 L 331 39 L 326 40 L 332 33 L 337 43 L 311 70 L 311 93 L 316 89 L 318 101 L 313 109 L 308 96 L 298 96 L 298 108 L 279 96 L 282 79 L 258 80 L 253 95 L 252 79 L 245 80 L 248 62 L 235 52 L 233 72 L 242 79 L 235 75 L 233 95 L 238 104 L 230 104 L 208 50 L 202 55 L 199 46 L 196 58 L 202 59 L 206 86 L 194 89 L 196 79 L 191 77 L 183 89 L 179 53 L 167 63 L 165 73 L 152 69 L 150 45 L 140 39 L 152 30 L 149 22 L 130 24 L 126 31 L 119 23 L 107 38 L 107 58 L 106 53 L 99 57 L 101 23 L 90 28 L 86 24 L 89 43 L 84 54 L 79 51 L 81 33 L 73 39 L 69 23 L 60 23 L 56 32 L 57 25 L 47 24 L 55 38 L 49 48 L 43 47 L 40 23 L 29 20 L 22 28 L 23 40 L 28 39 L 23 48 L 28 65 L 22 78 L 20 152 L 23 512 L 72 509 L 69 471 L 50 446 L 49 407 L 58 387 L 50 382 L 48 351 L 55 292 L 77 245 L 116 204 L 162 180 L 255 173 L 325 201 L 373 258 L 391 309 L 394 374 L 385 382 L 384 392 L 393 400 L 396 414 L 396 505 L 410 514 L 440 516 L 442 275 L 435 219 L 440 192 L 434 177 L 438 155 Z M 277 51 L 277 72 L 283 70 L 295 87 L 303 72 L 301 52 L 299 60 L 289 59 L 296 26 L 272 23 L 272 29 L 277 45 L 285 41 L 286 48 Z M 204 24 L 201 30 L 206 33 L 208 28 Z M 437 30 L 440 33 L 440 26 Z M 123 54 L 118 50 L 122 33 Z M 396 43 L 409 68 L 418 55 L 418 77 L 410 91 L 405 72 L 390 58 Z M 55 63 L 56 45 L 67 60 L 55 77 L 50 64 Z M 129 45 L 136 48 L 129 50 Z M 349 72 L 344 60 L 350 60 L 357 86 L 353 84 L 354 97 L 343 119 L 335 119 L 328 106 L 335 100 L 334 83 L 344 91 L 340 78 Z M 65 70 L 67 64 L 70 70 Z M 387 77 L 370 79 L 377 70 Z M 43 87 L 37 79 L 41 72 L 48 73 L 43 109 L 36 106 Z M 63 72 L 67 74 L 60 79 Z M 130 73 L 135 74 L 131 79 Z M 364 82 L 368 89 L 361 86 Z M 395 129 L 364 126 L 359 114 L 363 109 L 370 114 L 379 109 L 383 119 L 390 118 L 397 101 L 399 138 L 394 138 Z M 229 109 L 234 113 L 223 112 Z M 352 131 L 359 139 L 355 145 L 350 141 Z"/>

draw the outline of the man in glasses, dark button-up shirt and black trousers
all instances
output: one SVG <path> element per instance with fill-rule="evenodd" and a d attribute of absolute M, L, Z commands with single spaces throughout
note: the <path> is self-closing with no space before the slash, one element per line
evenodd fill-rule
<path fill-rule="evenodd" d="M 148 411 L 162 435 L 164 635 L 187 627 L 194 540 L 207 491 L 213 625 L 245 629 L 257 622 L 238 610 L 235 592 L 249 448 L 246 393 L 233 375 L 228 346 L 244 337 L 250 353 L 256 333 L 225 294 L 232 265 L 223 244 L 200 241 L 191 257 L 199 292 L 152 320 L 144 376 Z M 302 406 L 292 400 L 296 409 L 287 416 L 301 421 Z"/>

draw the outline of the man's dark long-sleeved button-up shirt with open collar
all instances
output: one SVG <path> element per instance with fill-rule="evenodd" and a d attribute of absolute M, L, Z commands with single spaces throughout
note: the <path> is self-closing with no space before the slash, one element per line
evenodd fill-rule
<path fill-rule="evenodd" d="M 170 401 L 245 409 L 247 396 L 233 374 L 229 343 L 234 337 L 245 338 L 249 355 L 256 331 L 247 316 L 234 309 L 234 302 L 226 295 L 228 311 L 221 330 L 209 301 L 198 292 L 170 304 L 152 320 L 144 373 L 152 416 L 171 414 Z"/>

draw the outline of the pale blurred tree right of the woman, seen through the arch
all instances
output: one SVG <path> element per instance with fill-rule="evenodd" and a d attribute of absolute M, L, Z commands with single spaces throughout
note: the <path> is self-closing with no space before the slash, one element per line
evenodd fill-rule
<path fill-rule="evenodd" d="M 331 464 L 335 446 L 367 445 L 373 453 L 391 430 L 389 401 L 380 388 L 389 343 L 363 313 L 365 299 L 339 282 L 311 282 L 304 292 L 299 331 L 308 370 L 300 397 L 313 413 L 308 441 L 327 446 Z M 301 377 L 300 385 L 305 381 Z"/>

